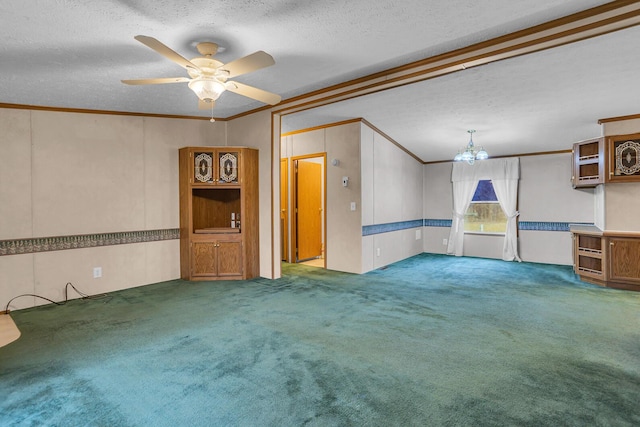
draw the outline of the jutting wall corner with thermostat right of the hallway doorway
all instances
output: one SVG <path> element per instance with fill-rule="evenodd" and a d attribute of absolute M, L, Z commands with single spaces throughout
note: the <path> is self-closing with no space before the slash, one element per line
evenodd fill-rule
<path fill-rule="evenodd" d="M 280 149 L 327 153 L 328 269 L 363 273 L 422 252 L 421 228 L 362 236 L 365 225 L 422 219 L 420 162 L 362 122 L 287 135 Z"/>

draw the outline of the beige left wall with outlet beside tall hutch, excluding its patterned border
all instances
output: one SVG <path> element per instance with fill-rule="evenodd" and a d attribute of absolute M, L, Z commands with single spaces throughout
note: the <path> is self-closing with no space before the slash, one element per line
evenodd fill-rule
<path fill-rule="evenodd" d="M 224 144 L 225 127 L 0 109 L 0 240 L 178 228 L 178 148 Z M 59 301 L 67 282 L 94 294 L 176 279 L 179 262 L 177 240 L 1 256 L 0 301 Z"/>

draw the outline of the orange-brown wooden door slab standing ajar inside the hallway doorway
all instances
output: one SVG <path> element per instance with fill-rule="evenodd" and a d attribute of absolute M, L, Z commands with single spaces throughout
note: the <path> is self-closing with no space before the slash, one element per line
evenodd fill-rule
<path fill-rule="evenodd" d="M 322 255 L 322 164 L 296 160 L 296 261 Z"/>

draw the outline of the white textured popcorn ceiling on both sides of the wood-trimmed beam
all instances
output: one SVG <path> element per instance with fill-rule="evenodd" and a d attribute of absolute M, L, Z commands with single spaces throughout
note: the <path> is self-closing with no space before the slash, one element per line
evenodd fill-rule
<path fill-rule="evenodd" d="M 257 50 L 276 65 L 238 81 L 284 99 L 531 27 L 593 0 L 138 0 L 0 2 L 0 103 L 206 116 L 186 84 L 121 79 L 185 76 L 134 40 L 181 55 L 214 41 L 222 62 Z M 451 158 L 466 130 L 492 155 L 569 148 L 597 120 L 640 113 L 640 28 L 285 116 L 284 130 L 363 117 L 424 161 Z M 225 118 L 262 106 L 233 93 Z"/>

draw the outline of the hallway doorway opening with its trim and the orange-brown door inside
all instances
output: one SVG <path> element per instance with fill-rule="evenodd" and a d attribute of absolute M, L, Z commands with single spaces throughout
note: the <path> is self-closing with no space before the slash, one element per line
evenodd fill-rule
<path fill-rule="evenodd" d="M 325 188 L 325 153 L 291 158 L 292 262 L 326 267 Z"/>

